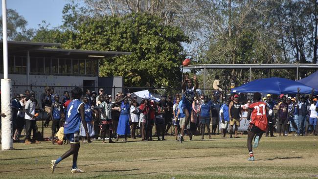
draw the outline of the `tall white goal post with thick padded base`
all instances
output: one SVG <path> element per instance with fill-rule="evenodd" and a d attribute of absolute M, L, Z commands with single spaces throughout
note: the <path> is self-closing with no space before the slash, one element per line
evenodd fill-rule
<path fill-rule="evenodd" d="M 11 119 L 11 79 L 8 79 L 8 41 L 6 0 L 2 0 L 2 34 L 3 34 L 3 78 L 1 79 L 1 149 L 8 150 L 12 145 Z"/>

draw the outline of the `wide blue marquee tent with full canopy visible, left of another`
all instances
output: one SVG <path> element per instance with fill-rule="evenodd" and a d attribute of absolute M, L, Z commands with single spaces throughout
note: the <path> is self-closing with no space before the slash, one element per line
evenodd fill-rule
<path fill-rule="evenodd" d="M 285 78 L 263 78 L 251 81 L 231 90 L 232 93 L 260 92 L 266 94 L 296 94 L 297 88 L 300 93 L 310 94 L 312 88 L 302 83 Z M 318 91 L 316 90 L 315 93 Z"/>

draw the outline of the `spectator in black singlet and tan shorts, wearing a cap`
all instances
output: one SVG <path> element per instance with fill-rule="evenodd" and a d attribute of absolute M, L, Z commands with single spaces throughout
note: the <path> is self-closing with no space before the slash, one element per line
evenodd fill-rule
<path fill-rule="evenodd" d="M 230 126 L 230 138 L 233 138 L 233 126 L 234 128 L 234 137 L 239 138 L 237 136 L 237 130 L 240 126 L 240 118 L 242 116 L 242 108 L 238 101 L 238 94 L 234 95 L 234 100 L 229 103 L 229 126 Z"/>

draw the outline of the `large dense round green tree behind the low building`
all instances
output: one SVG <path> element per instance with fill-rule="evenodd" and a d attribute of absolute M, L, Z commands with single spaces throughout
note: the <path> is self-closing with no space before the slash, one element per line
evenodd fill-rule
<path fill-rule="evenodd" d="M 156 16 L 91 18 L 68 37 L 65 48 L 133 52 L 102 60 L 100 76 L 123 76 L 125 86 L 180 86 L 182 42 L 188 38 L 179 27 L 164 25 Z"/>

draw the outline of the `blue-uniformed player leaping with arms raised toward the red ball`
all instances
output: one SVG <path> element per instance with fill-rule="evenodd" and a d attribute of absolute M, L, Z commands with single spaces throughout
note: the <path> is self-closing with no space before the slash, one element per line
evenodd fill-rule
<path fill-rule="evenodd" d="M 194 100 L 194 96 L 197 96 L 196 90 L 199 87 L 197 77 L 193 77 L 193 81 L 195 83 L 195 86 L 192 85 L 192 80 L 188 78 L 188 75 L 184 76 L 184 81 L 182 82 L 182 105 L 179 105 L 179 107 L 182 110 L 182 113 L 185 114 L 185 121 L 184 125 L 180 124 L 180 127 L 182 128 L 182 131 L 184 128 L 188 125 L 191 111 L 192 111 L 192 103 Z M 192 135 L 189 135 L 190 140 L 192 139 Z M 183 134 L 181 134 L 180 140 L 183 140 Z"/>

